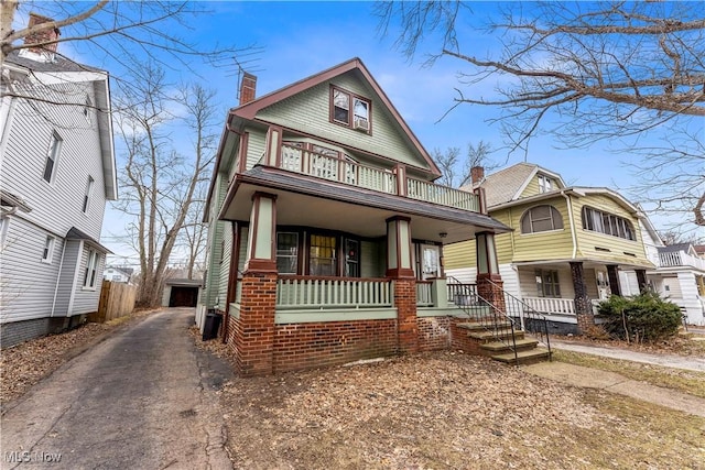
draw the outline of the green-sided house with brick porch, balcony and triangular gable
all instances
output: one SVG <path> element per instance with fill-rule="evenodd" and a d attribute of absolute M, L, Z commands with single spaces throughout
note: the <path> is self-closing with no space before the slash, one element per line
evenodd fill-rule
<path fill-rule="evenodd" d="M 199 315 L 223 315 L 238 369 L 447 345 L 444 244 L 477 238 L 491 250 L 510 230 L 482 192 L 433 183 L 437 166 L 358 58 L 262 97 L 256 88 L 246 74 L 205 214 Z"/>

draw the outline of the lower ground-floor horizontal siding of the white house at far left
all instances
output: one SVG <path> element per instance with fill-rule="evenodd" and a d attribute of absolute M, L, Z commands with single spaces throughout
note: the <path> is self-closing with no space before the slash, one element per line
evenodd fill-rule
<path fill-rule="evenodd" d="M 63 239 L 56 238 L 50 263 L 42 262 L 48 232 L 18 217 L 6 219 L 0 278 L 0 321 L 48 317 L 54 302 Z"/>

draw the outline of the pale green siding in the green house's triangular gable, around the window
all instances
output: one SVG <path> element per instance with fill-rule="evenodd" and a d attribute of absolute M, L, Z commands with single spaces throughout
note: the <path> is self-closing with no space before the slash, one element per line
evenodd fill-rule
<path fill-rule="evenodd" d="M 371 134 L 329 122 L 329 89 L 335 85 L 371 100 Z M 260 111 L 258 118 L 319 135 L 343 146 L 360 149 L 409 165 L 429 168 L 429 164 L 404 139 L 395 119 L 381 100 L 373 96 L 355 72 L 335 77 L 296 96 L 281 100 Z"/>

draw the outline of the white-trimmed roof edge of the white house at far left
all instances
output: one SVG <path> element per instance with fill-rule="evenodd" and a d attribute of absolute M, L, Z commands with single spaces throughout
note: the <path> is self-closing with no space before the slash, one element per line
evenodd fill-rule
<path fill-rule="evenodd" d="M 105 194 L 109 200 L 118 198 L 118 175 L 115 160 L 115 142 L 112 139 L 112 110 L 110 105 L 110 81 L 108 73 L 95 67 L 69 61 L 55 55 L 53 61 L 34 61 L 21 56 L 17 51 L 6 57 L 3 68 L 23 76 L 31 83 L 55 85 L 61 83 L 93 83 L 96 96 L 98 132 L 100 134 L 100 153 Z M 4 73 L 3 73 L 4 79 Z M 12 87 L 12 85 L 9 85 Z M 84 103 L 80 102 L 80 106 Z"/>

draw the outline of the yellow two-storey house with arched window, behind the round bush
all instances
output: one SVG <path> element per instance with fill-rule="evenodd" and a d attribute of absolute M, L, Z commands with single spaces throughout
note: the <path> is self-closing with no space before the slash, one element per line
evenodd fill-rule
<path fill-rule="evenodd" d="M 473 172 L 471 189 L 484 188 L 488 214 L 513 231 L 496 236 L 505 291 L 538 311 L 555 329 L 594 324 L 593 306 L 621 294 L 620 282 L 647 284 L 639 208 L 608 188 L 566 186 L 561 175 L 519 163 L 485 177 Z M 448 282 L 476 276 L 470 240 L 444 247 Z"/>

